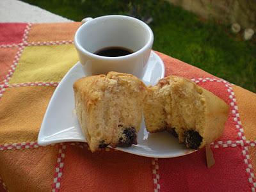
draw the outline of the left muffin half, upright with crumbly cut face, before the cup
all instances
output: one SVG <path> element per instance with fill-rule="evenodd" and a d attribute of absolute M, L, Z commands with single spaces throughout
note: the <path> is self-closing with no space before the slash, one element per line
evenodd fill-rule
<path fill-rule="evenodd" d="M 147 87 L 118 72 L 83 77 L 74 83 L 76 113 L 90 150 L 137 144 Z"/>

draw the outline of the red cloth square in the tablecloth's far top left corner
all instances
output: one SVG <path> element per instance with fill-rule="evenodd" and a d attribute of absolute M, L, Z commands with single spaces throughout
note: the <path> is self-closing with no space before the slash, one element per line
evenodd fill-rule
<path fill-rule="evenodd" d="M 0 23 L 0 44 L 21 43 L 26 26 L 26 23 Z"/>

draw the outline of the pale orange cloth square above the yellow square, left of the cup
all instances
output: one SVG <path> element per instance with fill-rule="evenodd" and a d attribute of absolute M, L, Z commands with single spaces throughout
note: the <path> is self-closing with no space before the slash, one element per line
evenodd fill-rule
<path fill-rule="evenodd" d="M 28 42 L 74 40 L 74 34 L 79 26 L 81 22 L 32 24 Z"/>

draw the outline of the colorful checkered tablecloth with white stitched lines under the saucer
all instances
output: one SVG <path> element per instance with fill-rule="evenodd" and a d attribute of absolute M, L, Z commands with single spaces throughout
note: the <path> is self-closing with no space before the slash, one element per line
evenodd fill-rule
<path fill-rule="evenodd" d="M 225 131 L 205 150 L 170 159 L 85 143 L 36 143 L 52 93 L 77 62 L 79 22 L 0 24 L 0 191 L 255 191 L 256 94 L 156 52 L 166 76 L 187 77 L 230 105 Z"/>

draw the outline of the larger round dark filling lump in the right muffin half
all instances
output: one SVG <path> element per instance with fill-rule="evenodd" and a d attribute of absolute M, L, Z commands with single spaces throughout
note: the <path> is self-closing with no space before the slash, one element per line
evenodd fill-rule
<path fill-rule="evenodd" d="M 189 130 L 184 132 L 184 143 L 187 147 L 198 149 L 203 138 L 197 131 Z"/>

